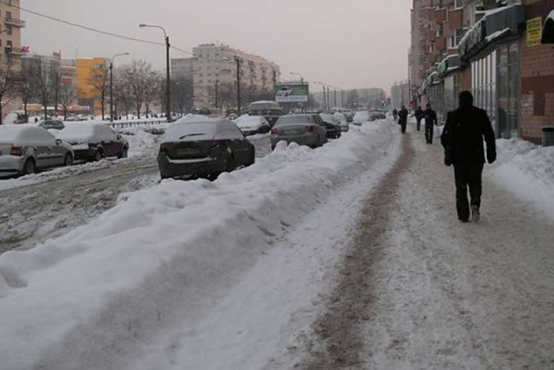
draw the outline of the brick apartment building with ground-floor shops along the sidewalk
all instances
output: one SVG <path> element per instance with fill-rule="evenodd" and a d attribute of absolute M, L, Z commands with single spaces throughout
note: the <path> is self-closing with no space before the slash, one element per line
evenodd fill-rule
<path fill-rule="evenodd" d="M 497 136 L 539 142 L 554 122 L 554 49 L 543 37 L 553 8 L 554 0 L 413 0 L 414 99 L 444 120 L 470 90 Z"/>

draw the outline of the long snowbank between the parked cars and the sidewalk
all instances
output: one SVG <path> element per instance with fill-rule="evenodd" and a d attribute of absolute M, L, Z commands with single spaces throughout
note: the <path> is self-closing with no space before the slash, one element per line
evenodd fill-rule
<path fill-rule="evenodd" d="M 215 182 L 165 180 L 61 238 L 3 254 L 2 367 L 123 369 L 134 352 L 148 353 L 156 333 L 199 316 L 287 227 L 386 156 L 396 133 L 378 121 L 316 150 L 280 143 Z"/>

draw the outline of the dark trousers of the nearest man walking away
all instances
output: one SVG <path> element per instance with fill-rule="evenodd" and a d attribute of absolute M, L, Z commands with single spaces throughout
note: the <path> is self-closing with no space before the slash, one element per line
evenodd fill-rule
<path fill-rule="evenodd" d="M 460 220 L 469 220 L 470 202 L 467 202 L 467 187 L 470 188 L 472 206 L 481 206 L 483 163 L 454 164 L 454 179 L 456 179 L 456 210 Z"/>

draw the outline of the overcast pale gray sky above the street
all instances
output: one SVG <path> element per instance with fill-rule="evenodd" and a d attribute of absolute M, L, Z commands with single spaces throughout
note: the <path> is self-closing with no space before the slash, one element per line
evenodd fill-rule
<path fill-rule="evenodd" d="M 280 65 L 306 80 L 344 89 L 382 87 L 407 78 L 410 0 L 23 0 L 21 6 L 94 28 L 171 43 L 186 51 L 224 42 Z M 64 58 L 128 51 L 156 69 L 165 66 L 159 46 L 80 30 L 21 12 L 22 45 L 32 52 L 62 51 Z M 186 57 L 172 51 L 172 58 Z M 121 58 L 118 62 L 123 62 Z M 315 87 L 314 87 L 315 88 Z"/>

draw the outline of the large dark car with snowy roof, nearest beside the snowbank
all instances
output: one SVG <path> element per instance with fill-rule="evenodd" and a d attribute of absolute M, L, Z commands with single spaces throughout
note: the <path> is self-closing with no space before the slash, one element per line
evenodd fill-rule
<path fill-rule="evenodd" d="M 254 161 L 253 144 L 226 119 L 176 123 L 166 131 L 158 153 L 162 179 L 217 177 Z"/>

